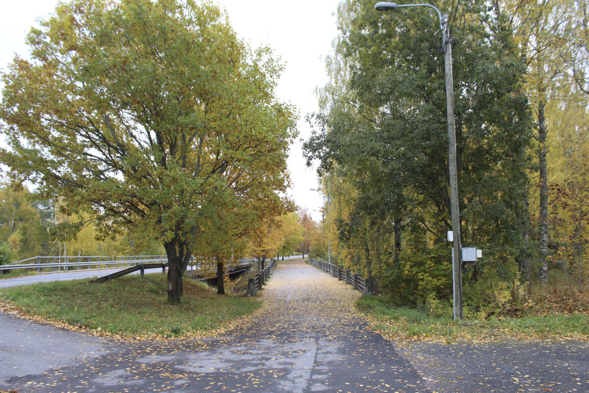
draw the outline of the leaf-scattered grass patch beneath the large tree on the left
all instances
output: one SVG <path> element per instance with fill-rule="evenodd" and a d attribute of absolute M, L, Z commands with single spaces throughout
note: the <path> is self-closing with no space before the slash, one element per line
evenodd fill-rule
<path fill-rule="evenodd" d="M 166 303 L 166 276 L 125 276 L 105 283 L 72 280 L 0 290 L 2 306 L 37 320 L 122 338 L 191 338 L 213 334 L 256 309 L 260 302 L 218 296 L 184 280 L 180 305 Z"/>

